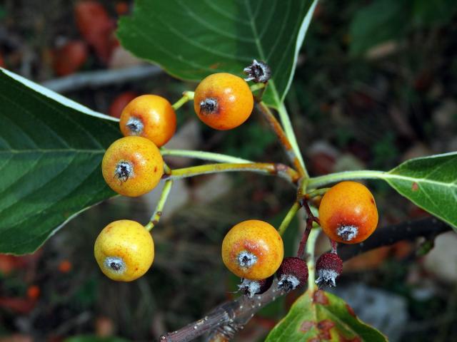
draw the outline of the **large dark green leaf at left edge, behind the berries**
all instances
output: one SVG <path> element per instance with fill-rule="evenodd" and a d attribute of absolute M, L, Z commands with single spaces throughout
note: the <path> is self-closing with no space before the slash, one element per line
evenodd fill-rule
<path fill-rule="evenodd" d="M 0 106 L 0 253 L 31 253 L 76 214 L 114 195 L 100 162 L 119 128 L 4 69 Z"/>

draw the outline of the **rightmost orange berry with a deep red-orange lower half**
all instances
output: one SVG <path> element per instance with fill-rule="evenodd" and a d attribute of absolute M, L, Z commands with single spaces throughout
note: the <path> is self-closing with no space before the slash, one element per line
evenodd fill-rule
<path fill-rule="evenodd" d="M 343 244 L 356 244 L 363 242 L 376 229 L 378 209 L 365 185 L 341 182 L 322 197 L 319 219 L 323 232 L 330 239 Z"/>

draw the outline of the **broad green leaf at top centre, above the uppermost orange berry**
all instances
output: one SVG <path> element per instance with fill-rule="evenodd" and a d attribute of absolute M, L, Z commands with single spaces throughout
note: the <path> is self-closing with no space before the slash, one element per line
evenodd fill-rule
<path fill-rule="evenodd" d="M 263 100 L 278 108 L 291 85 L 317 0 L 137 0 L 119 23 L 121 44 L 178 78 L 241 75 L 253 58 L 273 73 Z"/>

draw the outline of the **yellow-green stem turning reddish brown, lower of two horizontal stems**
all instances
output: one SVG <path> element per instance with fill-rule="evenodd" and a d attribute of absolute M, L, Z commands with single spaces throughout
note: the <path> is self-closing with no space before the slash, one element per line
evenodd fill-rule
<path fill-rule="evenodd" d="M 217 172 L 235 172 L 235 171 L 251 171 L 263 173 L 266 175 L 277 175 L 284 178 L 293 185 L 296 185 L 300 175 L 283 164 L 273 164 L 267 162 L 251 162 L 251 163 L 219 163 L 219 164 L 206 164 L 192 167 L 184 167 L 182 169 L 171 170 L 170 175 L 164 175 L 164 179 L 179 179 L 186 177 L 194 177 L 198 175 L 205 175 L 208 173 Z"/>

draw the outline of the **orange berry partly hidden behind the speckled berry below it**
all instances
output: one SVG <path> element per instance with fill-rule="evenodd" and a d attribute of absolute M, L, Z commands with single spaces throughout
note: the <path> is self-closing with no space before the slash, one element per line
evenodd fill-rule
<path fill-rule="evenodd" d="M 132 129 L 138 127 L 131 125 L 138 122 L 137 120 L 142 126 L 141 130 Z M 141 95 L 131 100 L 122 110 L 119 127 L 124 136 L 139 135 L 161 147 L 176 131 L 176 113 L 165 98 L 158 95 Z"/>

